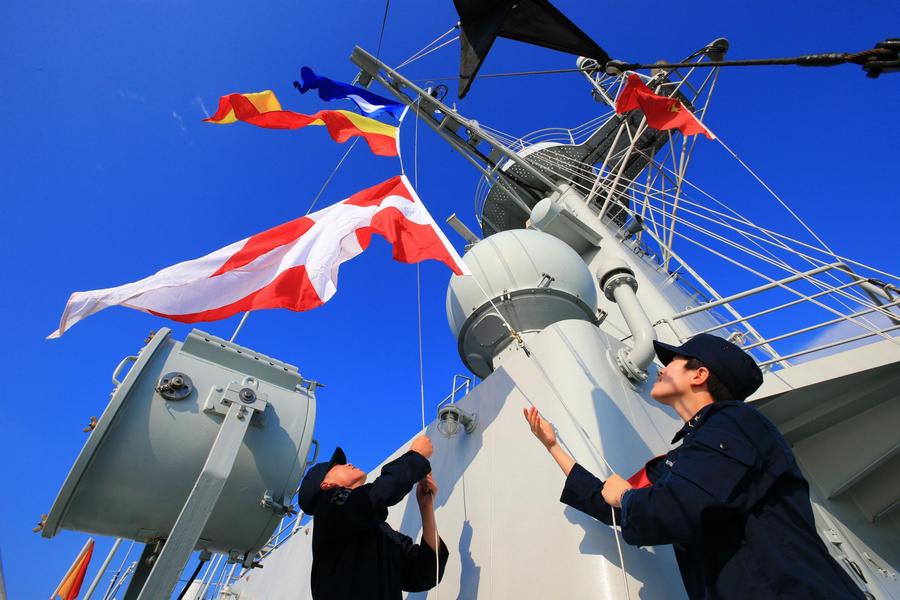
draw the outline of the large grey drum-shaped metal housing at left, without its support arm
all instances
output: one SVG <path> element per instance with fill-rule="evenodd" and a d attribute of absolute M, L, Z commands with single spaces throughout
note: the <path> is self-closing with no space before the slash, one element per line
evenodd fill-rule
<path fill-rule="evenodd" d="M 117 382 L 118 371 L 133 362 Z M 60 490 L 43 530 L 84 531 L 147 542 L 166 538 L 210 453 L 221 400 L 265 398 L 200 535 L 198 547 L 252 555 L 272 535 L 306 467 L 315 386 L 297 368 L 192 331 L 182 343 L 161 329 L 122 361 L 109 405 Z"/>

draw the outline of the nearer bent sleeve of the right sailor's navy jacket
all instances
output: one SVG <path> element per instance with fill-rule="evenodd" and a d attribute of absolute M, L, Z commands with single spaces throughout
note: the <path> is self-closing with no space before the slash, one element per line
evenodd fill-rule
<path fill-rule="evenodd" d="M 705 425 L 651 487 L 622 498 L 622 535 L 635 546 L 691 543 L 701 531 L 749 508 L 758 453 L 746 437 Z"/>

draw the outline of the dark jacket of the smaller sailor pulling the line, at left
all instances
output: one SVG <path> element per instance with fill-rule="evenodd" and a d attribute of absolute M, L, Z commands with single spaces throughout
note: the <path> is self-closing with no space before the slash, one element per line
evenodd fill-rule
<path fill-rule="evenodd" d="M 325 493 L 316 507 L 313 566 L 315 600 L 400 600 L 402 591 L 435 585 L 435 553 L 385 523 L 387 509 L 431 471 L 418 452 L 407 452 L 381 469 L 372 483 Z M 434 543 L 434 541 L 432 541 Z M 449 553 L 440 542 L 440 575 Z"/>

